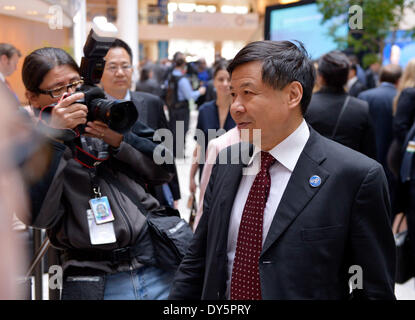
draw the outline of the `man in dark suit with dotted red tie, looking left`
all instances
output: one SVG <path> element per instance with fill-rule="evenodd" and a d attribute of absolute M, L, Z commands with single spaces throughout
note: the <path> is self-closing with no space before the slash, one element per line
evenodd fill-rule
<path fill-rule="evenodd" d="M 254 153 L 219 154 L 169 298 L 347 299 L 359 278 L 353 298 L 394 299 L 383 169 L 304 121 L 314 69 L 303 45 L 250 43 L 228 70 Z"/>

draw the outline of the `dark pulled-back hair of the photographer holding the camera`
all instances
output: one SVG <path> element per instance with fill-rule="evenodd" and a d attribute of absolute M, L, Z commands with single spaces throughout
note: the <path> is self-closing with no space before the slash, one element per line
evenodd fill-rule
<path fill-rule="evenodd" d="M 22 68 L 22 79 L 27 90 L 39 93 L 39 86 L 46 74 L 57 66 L 68 65 L 79 73 L 75 60 L 59 48 L 41 48 L 29 54 Z"/>

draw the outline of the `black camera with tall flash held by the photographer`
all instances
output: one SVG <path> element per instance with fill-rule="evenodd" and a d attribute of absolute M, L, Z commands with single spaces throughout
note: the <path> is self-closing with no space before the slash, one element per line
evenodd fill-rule
<path fill-rule="evenodd" d="M 77 102 L 88 107 L 88 121 L 99 120 L 114 131 L 125 133 L 138 119 L 134 103 L 126 100 L 108 100 L 104 91 L 96 86 L 104 72 L 104 57 L 113 42 L 114 38 L 100 37 L 94 30 L 89 33 L 80 72 L 84 84 L 77 89 L 85 94 L 85 98 Z"/>

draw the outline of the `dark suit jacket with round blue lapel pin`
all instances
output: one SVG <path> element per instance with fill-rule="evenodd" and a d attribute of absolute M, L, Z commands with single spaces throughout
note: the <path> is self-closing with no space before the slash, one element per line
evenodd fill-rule
<path fill-rule="evenodd" d="M 240 144 L 223 151 L 228 164 L 213 168 L 170 299 L 225 298 L 229 220 L 244 167 L 231 152 L 235 146 Z M 309 183 L 314 175 L 322 180 L 317 188 Z M 389 214 L 382 166 L 311 129 L 262 248 L 263 299 L 349 298 L 353 265 L 363 272 L 363 289 L 354 290 L 354 297 L 394 299 Z"/>

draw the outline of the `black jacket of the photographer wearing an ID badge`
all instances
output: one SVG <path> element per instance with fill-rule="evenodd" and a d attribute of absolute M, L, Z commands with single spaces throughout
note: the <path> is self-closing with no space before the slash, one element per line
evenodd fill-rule
<path fill-rule="evenodd" d="M 88 231 L 87 210 L 92 192 L 93 171 L 81 165 L 75 158 L 76 142 L 65 144 L 50 140 L 52 160 L 43 178 L 32 185 L 31 217 L 22 217 L 27 225 L 47 229 L 51 243 L 58 249 L 84 253 L 84 258 L 69 259 L 68 266 L 89 267 L 104 272 L 127 271 L 129 265 L 114 265 L 109 261 L 89 261 L 88 252 L 113 251 L 138 243 L 141 254 L 132 263 L 137 267 L 154 263 L 152 247 L 146 228 L 145 214 L 119 188 L 109 181 L 104 172 L 113 176 L 119 184 L 134 190 L 135 196 L 148 211 L 159 208 L 159 202 L 150 195 L 145 184 L 163 184 L 173 176 L 174 166 L 157 165 L 153 152 L 154 131 L 137 121 L 124 134 L 118 149 L 110 148 L 110 158 L 98 165 L 95 184 L 102 196 L 107 196 L 115 217 L 116 242 L 92 245 Z M 169 151 L 166 151 L 169 152 Z M 171 155 L 172 157 L 172 155 Z"/>

